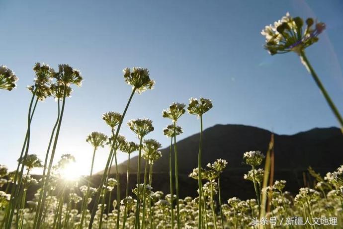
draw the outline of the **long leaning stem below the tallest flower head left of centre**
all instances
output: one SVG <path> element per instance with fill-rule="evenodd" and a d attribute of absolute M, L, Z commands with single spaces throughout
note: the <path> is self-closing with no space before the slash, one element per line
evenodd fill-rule
<path fill-rule="evenodd" d="M 126 111 L 127 109 L 129 108 L 129 105 L 131 103 L 131 100 L 132 100 L 132 97 L 133 95 L 135 94 L 135 91 L 136 91 L 136 88 L 133 88 L 132 90 L 132 93 L 130 95 L 130 98 L 129 98 L 129 101 L 127 102 L 126 104 L 126 107 L 124 109 L 124 112 L 123 112 L 123 115 L 121 117 L 121 120 L 118 124 L 118 128 L 117 128 L 117 131 L 115 133 L 115 138 L 113 139 L 113 144 L 115 144 L 116 140 L 117 140 L 117 137 L 118 137 L 118 134 L 119 134 L 119 130 L 120 130 L 120 127 L 123 123 L 123 120 L 124 120 L 124 117 L 125 117 L 125 114 L 126 114 Z M 104 182 L 106 181 L 106 177 L 107 177 L 107 169 L 108 169 L 108 166 L 109 166 L 109 162 L 111 160 L 111 157 L 112 157 L 112 153 L 113 153 L 113 150 L 111 150 L 111 152 L 109 153 L 108 155 L 108 158 L 107 158 L 107 162 L 106 162 L 106 166 L 105 166 L 105 169 L 104 169 L 104 172 L 102 174 L 102 177 L 101 177 L 101 181 L 100 181 L 100 185 L 99 185 L 99 191 L 102 190 L 102 186 L 104 185 Z M 100 199 L 100 192 L 98 192 L 96 194 L 96 198 L 95 198 L 95 201 L 94 201 L 94 205 L 93 205 L 93 209 L 92 209 L 92 212 L 91 212 L 91 215 L 90 215 L 90 220 L 89 220 L 89 225 L 88 225 L 88 229 L 91 229 L 92 228 L 92 224 L 93 224 L 93 221 L 94 221 L 94 217 L 95 217 L 95 212 L 96 212 L 96 209 L 97 209 L 97 204 L 99 203 L 99 199 Z M 119 204 L 119 203 L 117 203 Z"/>

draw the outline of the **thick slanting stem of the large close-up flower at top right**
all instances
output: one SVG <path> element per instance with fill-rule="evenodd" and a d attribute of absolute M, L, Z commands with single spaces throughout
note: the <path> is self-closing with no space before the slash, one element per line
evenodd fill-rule
<path fill-rule="evenodd" d="M 307 67 L 308 71 L 311 73 L 313 79 L 315 80 L 315 82 L 317 83 L 317 86 L 319 87 L 319 89 L 322 91 L 322 94 L 324 95 L 327 103 L 329 104 L 332 112 L 334 113 L 334 115 L 336 116 L 338 122 L 340 123 L 341 126 L 341 131 L 343 133 L 343 118 L 342 115 L 340 114 L 339 110 L 337 109 L 336 105 L 334 104 L 334 102 L 332 101 L 330 95 L 328 94 L 327 90 L 325 89 L 324 85 L 322 84 L 321 80 L 319 79 L 319 77 L 317 76 L 316 72 L 314 71 L 314 69 L 312 68 L 309 60 L 307 59 L 306 55 L 305 55 L 305 51 L 300 51 L 299 53 L 300 59 L 302 60 L 302 63 L 305 65 L 305 67 Z"/>

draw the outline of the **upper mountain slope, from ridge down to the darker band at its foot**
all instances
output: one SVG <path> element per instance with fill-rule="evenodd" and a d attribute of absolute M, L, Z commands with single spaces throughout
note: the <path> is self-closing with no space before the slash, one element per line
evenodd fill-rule
<path fill-rule="evenodd" d="M 215 125 L 203 132 L 202 166 L 217 158 L 229 164 L 224 173 L 247 171 L 242 164 L 243 153 L 259 150 L 265 154 L 271 133 L 244 125 Z M 343 136 L 338 128 L 315 128 L 295 135 L 274 135 L 275 171 L 306 170 L 308 166 L 320 170 L 335 170 L 343 163 Z M 199 134 L 177 142 L 178 167 L 180 174 L 189 174 L 197 167 Z M 163 156 L 154 164 L 154 172 L 169 171 L 169 147 L 162 150 Z M 130 171 L 137 172 L 138 157 L 130 161 Z M 144 166 L 144 160 L 142 161 Z M 126 172 L 127 161 L 119 166 Z M 112 167 L 111 171 L 115 171 Z M 101 172 L 100 172 L 101 173 Z M 285 177 L 286 178 L 286 177 Z"/>

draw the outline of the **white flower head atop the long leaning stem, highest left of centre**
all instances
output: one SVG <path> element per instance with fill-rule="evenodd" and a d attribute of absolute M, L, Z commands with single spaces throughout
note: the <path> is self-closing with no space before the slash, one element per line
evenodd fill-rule
<path fill-rule="evenodd" d="M 148 69 L 144 68 L 129 68 L 123 70 L 125 81 L 136 89 L 136 92 L 141 94 L 147 89 L 153 89 L 155 81 L 150 79 Z"/>

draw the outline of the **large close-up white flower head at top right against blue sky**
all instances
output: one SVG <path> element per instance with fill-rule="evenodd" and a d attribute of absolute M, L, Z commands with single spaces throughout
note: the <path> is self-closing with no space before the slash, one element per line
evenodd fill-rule
<path fill-rule="evenodd" d="M 299 54 L 308 46 L 318 41 L 318 35 L 325 29 L 325 23 L 314 24 L 313 18 L 306 20 L 306 28 L 303 30 L 303 19 L 291 17 L 289 13 L 274 25 L 267 25 L 261 34 L 265 36 L 264 48 L 271 55 L 294 51 Z M 314 26 L 313 26 L 314 25 Z"/>

